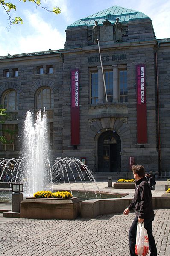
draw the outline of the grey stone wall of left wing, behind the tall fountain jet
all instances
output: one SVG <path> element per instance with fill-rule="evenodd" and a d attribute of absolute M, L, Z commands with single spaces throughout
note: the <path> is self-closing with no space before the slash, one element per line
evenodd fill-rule
<path fill-rule="evenodd" d="M 46 67 L 53 66 L 53 74 L 46 73 Z M 37 67 L 43 66 L 44 74 L 37 74 Z M 12 69 L 18 68 L 18 77 L 12 77 Z M 9 69 L 9 77 L 3 77 L 3 70 Z M 0 157 L 18 157 L 22 148 L 23 126 L 28 110 L 36 110 L 36 91 L 41 86 L 51 88 L 54 94 L 54 108 L 50 109 L 48 122 L 54 123 L 53 158 L 62 150 L 62 70 L 59 53 L 54 56 L 41 55 L 21 58 L 9 57 L 0 60 L 0 99 L 5 91 L 14 89 L 19 96 L 18 110 L 10 112 L 12 118 L 6 124 L 18 124 L 18 151 L 0 151 Z"/>

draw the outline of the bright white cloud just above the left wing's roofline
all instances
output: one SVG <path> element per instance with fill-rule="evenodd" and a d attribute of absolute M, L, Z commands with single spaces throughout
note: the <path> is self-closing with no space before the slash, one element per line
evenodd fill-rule
<path fill-rule="evenodd" d="M 26 16 L 29 31 L 27 30 L 24 34 L 21 32 L 16 35 L 13 34 L 12 40 L 0 45 L 0 55 L 3 55 L 4 51 L 6 51 L 5 54 L 7 55 L 7 53 L 17 54 L 44 51 L 49 48 L 51 50 L 64 48 L 65 36 L 61 32 L 45 22 L 37 13 L 26 12 Z M 3 32 L 5 32 L 5 29 L 0 34 L 2 35 Z M 5 34 L 5 38 L 7 38 L 7 32 Z"/>

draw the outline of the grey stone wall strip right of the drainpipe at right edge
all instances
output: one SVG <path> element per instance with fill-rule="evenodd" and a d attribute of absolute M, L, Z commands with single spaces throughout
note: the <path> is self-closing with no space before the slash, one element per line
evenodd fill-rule
<path fill-rule="evenodd" d="M 161 172 L 170 176 L 170 47 L 161 43 L 157 48 L 158 99 L 161 146 Z"/>

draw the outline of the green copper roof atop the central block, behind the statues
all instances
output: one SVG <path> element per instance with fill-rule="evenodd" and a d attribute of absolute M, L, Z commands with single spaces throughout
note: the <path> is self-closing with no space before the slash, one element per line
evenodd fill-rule
<path fill-rule="evenodd" d="M 93 26 L 94 21 L 98 21 L 98 25 L 103 24 L 103 21 L 107 18 L 108 21 L 111 21 L 113 24 L 116 21 L 116 18 L 119 18 L 121 22 L 127 22 L 132 19 L 141 19 L 141 18 L 149 18 L 142 12 L 138 12 L 135 10 L 123 8 L 120 6 L 113 6 L 106 10 L 97 12 L 93 15 L 89 15 L 85 18 L 79 19 L 75 21 L 68 27 L 75 27 L 75 26 Z"/>

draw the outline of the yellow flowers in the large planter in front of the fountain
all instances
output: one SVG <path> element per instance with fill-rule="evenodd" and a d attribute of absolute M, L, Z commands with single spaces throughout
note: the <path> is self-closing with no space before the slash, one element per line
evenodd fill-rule
<path fill-rule="evenodd" d="M 67 191 L 62 191 L 62 192 L 55 192 L 52 193 L 51 191 L 38 191 L 34 193 L 34 197 L 38 198 L 72 198 L 72 194 Z"/>

